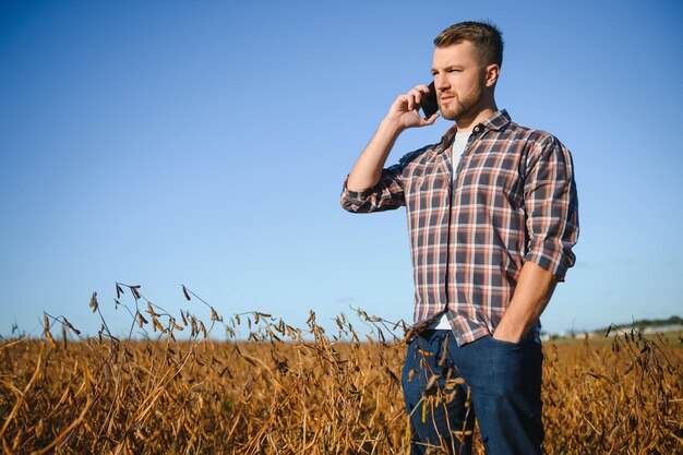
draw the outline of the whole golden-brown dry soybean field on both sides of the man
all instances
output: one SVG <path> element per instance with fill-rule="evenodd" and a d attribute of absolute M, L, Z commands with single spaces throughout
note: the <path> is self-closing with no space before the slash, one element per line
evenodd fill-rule
<path fill-rule="evenodd" d="M 0 344 L 3 454 L 407 453 L 405 345 L 381 319 L 358 311 L 373 330 L 360 339 L 344 315 L 326 334 L 313 313 L 296 328 L 262 313 L 224 321 L 207 306 L 206 326 L 135 286 L 117 284 L 119 298 L 124 288 L 146 338 L 118 339 L 104 320 L 97 337 L 82 338 L 46 314 L 45 339 Z M 95 295 L 91 308 L 99 311 Z M 235 339 L 240 325 L 248 340 Z M 217 327 L 227 342 L 208 337 Z M 611 347 L 544 347 L 548 454 L 683 452 L 683 351 L 615 332 Z"/>

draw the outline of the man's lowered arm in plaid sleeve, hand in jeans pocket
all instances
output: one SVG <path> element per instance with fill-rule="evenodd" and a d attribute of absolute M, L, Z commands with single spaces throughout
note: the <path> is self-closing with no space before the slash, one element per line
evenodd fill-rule
<path fill-rule="evenodd" d="M 558 282 L 574 265 L 578 199 L 570 152 L 553 136 L 529 153 L 525 180 L 528 252 L 515 292 L 493 337 L 518 343 L 548 306 Z"/>

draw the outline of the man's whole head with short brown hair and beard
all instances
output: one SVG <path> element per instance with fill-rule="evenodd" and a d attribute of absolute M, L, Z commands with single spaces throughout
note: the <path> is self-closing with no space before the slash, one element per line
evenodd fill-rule
<path fill-rule="evenodd" d="M 443 31 L 434 44 L 432 75 L 442 117 L 468 128 L 495 111 L 494 89 L 503 60 L 498 28 L 463 22 Z"/>

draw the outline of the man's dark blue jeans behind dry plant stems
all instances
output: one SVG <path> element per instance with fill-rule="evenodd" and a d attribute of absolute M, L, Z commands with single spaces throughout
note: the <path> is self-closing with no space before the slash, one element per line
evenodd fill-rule
<path fill-rule="evenodd" d="M 410 453 L 436 446 L 470 454 L 476 418 L 487 454 L 541 454 L 542 362 L 531 338 L 486 336 L 458 346 L 451 331 L 420 334 L 408 345 L 402 374 Z"/>

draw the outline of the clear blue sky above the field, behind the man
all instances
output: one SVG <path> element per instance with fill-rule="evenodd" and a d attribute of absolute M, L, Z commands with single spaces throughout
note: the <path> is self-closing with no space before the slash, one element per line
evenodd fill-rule
<path fill-rule="evenodd" d="M 499 107 L 574 156 L 577 264 L 546 330 L 683 313 L 679 1 L 3 1 L 0 334 L 44 310 L 95 333 L 94 290 L 124 333 L 117 280 L 200 315 L 181 284 L 226 315 L 411 320 L 405 212 L 339 192 L 433 37 L 479 19 L 506 44 Z"/>

